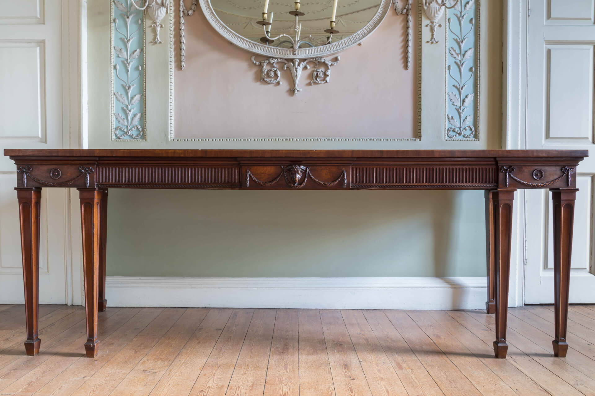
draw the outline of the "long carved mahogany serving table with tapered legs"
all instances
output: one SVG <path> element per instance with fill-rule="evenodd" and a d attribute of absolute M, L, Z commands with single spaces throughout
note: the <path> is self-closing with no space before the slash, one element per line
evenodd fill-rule
<path fill-rule="evenodd" d="M 109 188 L 483 189 L 488 313 L 494 354 L 506 357 L 506 315 L 516 189 L 549 188 L 553 199 L 556 356 L 566 356 L 576 166 L 586 150 L 4 150 L 17 166 L 27 340 L 39 352 L 39 214 L 44 187 L 80 191 L 87 357 L 98 353 L 105 311 Z"/>

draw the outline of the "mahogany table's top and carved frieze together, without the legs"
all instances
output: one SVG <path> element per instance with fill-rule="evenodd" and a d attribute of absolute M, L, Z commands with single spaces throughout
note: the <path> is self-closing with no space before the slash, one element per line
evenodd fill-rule
<path fill-rule="evenodd" d="M 20 172 L 18 187 L 344 190 L 572 188 L 576 166 L 588 155 L 585 150 L 10 149 L 4 154 Z"/>

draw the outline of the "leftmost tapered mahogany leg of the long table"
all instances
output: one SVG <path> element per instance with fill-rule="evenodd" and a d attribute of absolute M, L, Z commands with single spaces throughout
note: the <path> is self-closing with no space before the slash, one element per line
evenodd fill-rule
<path fill-rule="evenodd" d="M 40 188 L 15 188 L 21 223 L 21 252 L 23 254 L 23 283 L 25 290 L 25 324 L 28 355 L 39 353 L 41 340 L 37 337 L 39 325 L 39 219 L 41 211 Z"/>

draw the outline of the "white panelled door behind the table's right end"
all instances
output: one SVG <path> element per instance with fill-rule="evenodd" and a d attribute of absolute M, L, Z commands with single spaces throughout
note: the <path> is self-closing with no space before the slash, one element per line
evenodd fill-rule
<path fill-rule="evenodd" d="M 595 0 L 531 0 L 527 148 L 589 150 L 577 169 L 571 303 L 595 303 Z M 553 303 L 552 200 L 527 191 L 525 303 Z"/>

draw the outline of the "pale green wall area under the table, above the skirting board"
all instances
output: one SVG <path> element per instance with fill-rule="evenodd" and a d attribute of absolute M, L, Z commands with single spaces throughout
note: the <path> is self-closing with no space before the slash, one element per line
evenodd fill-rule
<path fill-rule="evenodd" d="M 483 276 L 483 191 L 109 191 L 108 275 Z"/>

